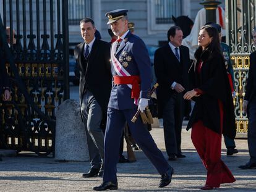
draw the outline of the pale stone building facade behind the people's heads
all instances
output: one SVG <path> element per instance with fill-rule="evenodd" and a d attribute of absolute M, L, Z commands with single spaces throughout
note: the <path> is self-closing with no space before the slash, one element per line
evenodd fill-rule
<path fill-rule="evenodd" d="M 135 23 L 135 34 L 146 44 L 158 46 L 166 41 L 166 31 L 174 25 L 172 15 L 187 15 L 194 20 L 203 6 L 201 0 L 69 0 L 69 41 L 75 44 L 80 38 L 79 20 L 92 17 L 103 40 L 109 41 L 105 13 L 114 9 L 128 9 L 129 21 Z M 90 8 L 89 8 L 90 7 Z M 74 12 L 74 10 L 75 12 Z M 83 10 L 83 11 L 79 11 Z M 75 14 L 77 13 L 77 14 Z M 79 14 L 78 14 L 79 13 Z"/>

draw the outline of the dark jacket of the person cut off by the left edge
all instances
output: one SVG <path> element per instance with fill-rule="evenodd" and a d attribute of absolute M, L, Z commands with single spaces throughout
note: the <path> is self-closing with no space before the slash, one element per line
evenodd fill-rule
<path fill-rule="evenodd" d="M 2 95 L 4 87 L 9 87 L 9 78 L 6 73 L 6 59 L 4 51 L 0 48 L 0 96 Z"/>

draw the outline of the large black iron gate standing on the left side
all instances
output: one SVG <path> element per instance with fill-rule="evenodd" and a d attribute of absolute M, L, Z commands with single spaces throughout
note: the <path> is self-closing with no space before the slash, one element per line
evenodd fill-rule
<path fill-rule="evenodd" d="M 1 0 L 1 6 L 12 96 L 0 103 L 0 148 L 54 154 L 56 107 L 69 98 L 67 1 Z"/>

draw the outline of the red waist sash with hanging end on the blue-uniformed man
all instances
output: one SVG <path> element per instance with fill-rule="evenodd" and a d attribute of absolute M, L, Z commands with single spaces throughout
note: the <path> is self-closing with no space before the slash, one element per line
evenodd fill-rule
<path fill-rule="evenodd" d="M 114 85 L 132 85 L 132 96 L 131 98 L 139 99 L 140 96 L 140 76 L 139 75 L 132 75 L 132 76 L 114 76 Z"/>

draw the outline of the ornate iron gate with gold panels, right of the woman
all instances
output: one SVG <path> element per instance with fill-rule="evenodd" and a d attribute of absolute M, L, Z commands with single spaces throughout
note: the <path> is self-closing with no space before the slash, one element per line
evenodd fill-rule
<path fill-rule="evenodd" d="M 234 80 L 237 91 L 235 104 L 237 133 L 247 133 L 248 119 L 242 112 L 245 85 L 248 78 L 250 53 L 255 51 L 252 29 L 256 26 L 256 0 L 226 0 L 227 42 L 234 61 Z M 247 134 L 244 134 L 247 136 Z"/>

